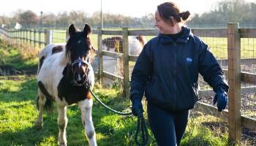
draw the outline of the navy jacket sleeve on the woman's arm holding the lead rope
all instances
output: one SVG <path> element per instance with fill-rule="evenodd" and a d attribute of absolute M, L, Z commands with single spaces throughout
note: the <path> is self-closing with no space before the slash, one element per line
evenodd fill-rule
<path fill-rule="evenodd" d="M 151 45 L 148 42 L 141 51 L 132 70 L 130 99 L 142 99 L 146 82 L 150 79 L 152 64 Z"/>

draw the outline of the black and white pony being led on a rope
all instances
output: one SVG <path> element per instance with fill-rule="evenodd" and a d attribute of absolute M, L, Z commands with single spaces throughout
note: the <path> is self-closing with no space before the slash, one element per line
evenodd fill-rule
<path fill-rule="evenodd" d="M 71 45 L 81 48 L 83 46 L 87 50 L 82 50 L 80 53 L 88 55 L 90 52 L 91 44 L 88 37 L 91 32 L 91 28 L 86 25 L 83 31 L 76 31 L 73 25 L 69 26 L 69 36 L 72 39 Z M 82 39 L 78 36 L 82 35 Z M 84 37 L 84 38 L 83 38 Z M 78 38 L 78 40 L 76 40 Z M 81 43 L 82 41 L 82 43 Z M 69 55 L 78 53 L 78 48 L 72 48 L 67 53 L 66 45 L 48 45 L 39 53 L 39 72 L 37 75 L 38 82 L 38 109 L 39 116 L 35 122 L 37 128 L 42 128 L 42 112 L 45 107 L 45 102 L 56 101 L 58 105 L 58 126 L 59 126 L 59 145 L 67 145 L 66 127 L 67 127 L 67 107 L 70 104 L 77 103 L 80 107 L 82 123 L 84 130 L 86 131 L 86 137 L 89 140 L 91 146 L 97 145 L 96 134 L 94 130 L 94 124 L 91 117 L 91 110 L 93 100 L 91 99 L 91 93 L 89 88 L 86 88 L 85 84 L 78 84 L 76 80 L 81 80 L 86 75 L 86 82 L 90 85 L 90 89 L 94 87 L 94 71 L 91 64 L 86 64 L 89 61 L 86 57 L 81 55 L 76 58 L 77 62 L 72 64 L 72 58 Z M 83 48 L 82 48 L 83 49 Z M 73 52 L 72 52 L 73 51 Z M 78 57 L 78 56 L 77 56 Z M 88 63 L 88 62 L 87 62 Z M 86 74 L 80 74 L 83 72 L 84 66 L 88 67 Z M 77 68 L 78 74 L 75 78 L 73 70 Z M 76 80 L 75 80 L 76 79 Z M 75 80 L 75 81 L 74 81 Z"/>

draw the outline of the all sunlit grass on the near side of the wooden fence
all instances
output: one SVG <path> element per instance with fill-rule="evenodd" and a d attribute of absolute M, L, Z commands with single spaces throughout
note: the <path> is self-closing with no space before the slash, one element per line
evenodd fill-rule
<path fill-rule="evenodd" d="M 8 45 L 2 40 L 0 46 L 1 64 L 4 63 L 16 67 L 23 66 L 21 69 L 37 66 L 35 58 L 26 57 L 37 54 L 36 49 L 34 51 L 27 51 L 27 55 L 23 55 L 19 46 Z M 15 60 L 13 60 L 14 58 Z M 94 87 L 94 93 L 108 106 L 114 107 L 116 110 L 130 111 L 130 102 L 121 96 L 121 88 L 117 82 L 108 87 L 102 87 L 97 82 Z M 34 120 L 38 115 L 35 104 L 36 96 L 37 80 L 35 76 L 0 77 L 0 146 L 57 145 L 59 130 L 56 109 L 53 110 L 52 114 L 45 113 L 45 123 L 41 130 L 34 128 Z M 144 105 L 144 107 L 146 106 Z M 80 110 L 76 105 L 72 105 L 68 109 L 68 145 L 88 145 L 80 120 Z M 146 117 L 146 112 L 144 114 Z M 92 117 L 97 133 L 98 145 L 135 145 L 134 136 L 137 124 L 135 117 L 115 115 L 105 110 L 95 100 Z M 192 114 L 181 145 L 229 145 L 227 142 L 227 131 L 222 131 L 222 129 L 216 130 L 216 124 L 205 126 L 208 125 L 205 124 L 206 121 L 208 123 L 209 121 L 210 123 L 220 123 L 219 120 L 211 116 L 200 113 L 197 113 L 197 115 Z M 215 130 L 212 131 L 211 127 L 214 127 Z M 151 131 L 149 131 L 149 136 L 148 145 L 156 146 L 157 144 Z"/>

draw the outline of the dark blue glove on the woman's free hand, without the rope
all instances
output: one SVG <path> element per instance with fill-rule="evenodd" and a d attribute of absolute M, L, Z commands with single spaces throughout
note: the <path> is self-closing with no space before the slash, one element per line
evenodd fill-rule
<path fill-rule="evenodd" d="M 214 96 L 214 104 L 217 102 L 218 111 L 222 112 L 227 106 L 227 92 L 222 89 L 218 88 L 216 94 Z"/>

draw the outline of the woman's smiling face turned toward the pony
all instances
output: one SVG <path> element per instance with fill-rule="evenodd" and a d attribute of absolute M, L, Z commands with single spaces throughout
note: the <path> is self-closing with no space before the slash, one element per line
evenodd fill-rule
<path fill-rule="evenodd" d="M 154 26 L 157 26 L 157 28 L 159 28 L 161 34 L 168 34 L 168 32 L 170 32 L 170 29 L 173 28 L 171 23 L 165 22 L 165 20 L 163 20 L 160 17 L 158 10 L 155 12 L 154 16 L 155 16 Z"/>

